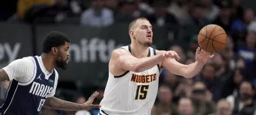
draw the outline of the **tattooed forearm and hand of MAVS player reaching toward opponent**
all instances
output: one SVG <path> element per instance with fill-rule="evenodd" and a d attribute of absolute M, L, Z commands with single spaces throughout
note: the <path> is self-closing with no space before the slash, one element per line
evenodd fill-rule
<path fill-rule="evenodd" d="M 100 105 L 92 104 L 94 98 L 97 97 L 98 94 L 99 93 L 97 91 L 93 93 L 93 95 L 84 104 L 76 104 L 73 102 L 61 100 L 60 98 L 49 97 L 45 100 L 44 107 L 47 107 L 50 109 L 67 110 L 67 111 L 90 110 L 92 108 L 99 108 Z"/>

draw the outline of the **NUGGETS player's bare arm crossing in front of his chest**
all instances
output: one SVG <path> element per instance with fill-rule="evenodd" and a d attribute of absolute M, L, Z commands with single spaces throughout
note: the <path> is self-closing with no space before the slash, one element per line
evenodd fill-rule
<path fill-rule="evenodd" d="M 124 49 L 116 49 L 112 52 L 111 61 L 118 67 L 133 72 L 142 72 L 150 69 L 164 58 L 164 55 L 156 55 L 154 57 L 136 58 L 131 53 Z"/>

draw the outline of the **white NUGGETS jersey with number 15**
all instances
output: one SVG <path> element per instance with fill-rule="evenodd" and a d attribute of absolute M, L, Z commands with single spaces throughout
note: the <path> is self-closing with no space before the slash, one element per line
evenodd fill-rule
<path fill-rule="evenodd" d="M 131 52 L 130 46 L 123 46 Z M 148 57 L 156 55 L 149 47 Z M 159 65 L 143 72 L 127 71 L 121 76 L 109 72 L 104 98 L 100 102 L 102 115 L 150 115 L 157 96 Z"/>

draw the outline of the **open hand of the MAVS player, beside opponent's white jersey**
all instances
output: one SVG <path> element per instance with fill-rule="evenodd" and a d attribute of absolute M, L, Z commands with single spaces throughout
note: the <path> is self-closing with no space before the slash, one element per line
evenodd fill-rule
<path fill-rule="evenodd" d="M 82 104 L 84 110 L 90 110 L 90 109 L 92 109 L 92 108 L 99 108 L 99 107 L 101 107 L 101 105 L 93 105 L 93 104 L 92 104 L 94 98 L 97 97 L 97 95 L 99 95 L 99 92 L 95 91 L 95 93 L 93 93 L 93 94 L 91 95 L 91 97 L 87 100 L 87 102 L 85 102 L 84 104 Z"/>

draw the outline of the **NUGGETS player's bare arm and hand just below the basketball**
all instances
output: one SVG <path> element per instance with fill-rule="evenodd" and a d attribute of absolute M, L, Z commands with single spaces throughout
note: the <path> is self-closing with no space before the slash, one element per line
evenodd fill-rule
<path fill-rule="evenodd" d="M 156 53 L 161 53 L 161 51 L 156 50 Z M 193 78 L 196 74 L 198 74 L 198 72 L 201 71 L 204 64 L 213 56 L 214 55 L 210 55 L 204 50 L 200 51 L 200 48 L 197 48 L 196 61 L 192 64 L 184 65 L 177 62 L 174 58 L 166 58 L 163 60 L 161 65 L 173 74 L 184 76 L 185 78 Z"/>

